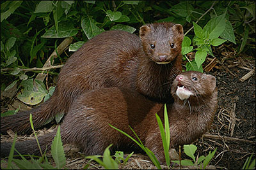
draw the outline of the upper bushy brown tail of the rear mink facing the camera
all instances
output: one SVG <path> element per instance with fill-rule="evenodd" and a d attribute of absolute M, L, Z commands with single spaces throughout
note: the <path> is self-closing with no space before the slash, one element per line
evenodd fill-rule
<path fill-rule="evenodd" d="M 58 89 L 56 88 L 55 90 Z M 66 102 L 67 99 L 64 99 L 65 97 L 61 97 L 58 92 L 54 92 L 50 99 L 36 108 L 29 111 L 20 111 L 9 117 L 1 117 L 1 134 L 6 134 L 8 130 L 17 132 L 17 134 L 32 132 L 29 122 L 30 113 L 32 114 L 35 129 L 44 125 L 50 118 L 61 113 L 67 113 L 70 102 Z"/>

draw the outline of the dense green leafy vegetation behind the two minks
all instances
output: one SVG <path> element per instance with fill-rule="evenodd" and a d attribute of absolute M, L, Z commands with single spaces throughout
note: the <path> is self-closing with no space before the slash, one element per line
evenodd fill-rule
<path fill-rule="evenodd" d="M 205 59 L 220 45 L 234 49 L 231 58 L 255 56 L 254 1 L 1 1 L 1 94 L 12 90 L 10 101 L 29 106 L 46 101 L 88 39 L 113 29 L 138 35 L 152 22 L 183 25 L 184 70 L 207 71 Z M 20 109 L 7 104 L 1 95 L 1 117 Z"/>

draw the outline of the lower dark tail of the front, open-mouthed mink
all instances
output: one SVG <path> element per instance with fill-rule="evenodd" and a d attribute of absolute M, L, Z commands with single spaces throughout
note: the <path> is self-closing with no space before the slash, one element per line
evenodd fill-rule
<path fill-rule="evenodd" d="M 44 134 L 44 136 L 39 136 L 38 141 L 42 153 L 45 152 L 45 149 L 51 150 L 51 141 L 54 138 L 56 131 Z M 12 148 L 12 143 L 3 142 L 1 143 L 1 157 L 8 157 L 10 150 Z M 36 139 L 26 140 L 26 141 L 16 141 L 15 148 L 21 155 L 41 155 L 38 148 Z M 14 151 L 14 155 L 19 155 Z"/>

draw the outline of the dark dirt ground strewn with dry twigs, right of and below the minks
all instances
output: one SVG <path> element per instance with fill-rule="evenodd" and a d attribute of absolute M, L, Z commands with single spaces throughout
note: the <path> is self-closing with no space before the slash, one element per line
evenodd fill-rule
<path fill-rule="evenodd" d="M 230 52 L 225 46 L 218 48 L 218 51 L 221 52 L 215 52 L 218 53 L 216 55 L 218 57 L 214 60 L 215 64 L 212 64 L 214 62 L 211 62 L 211 58 L 204 64 L 205 67 L 208 64 L 214 66 L 207 73 L 216 76 L 218 110 L 212 128 L 193 144 L 198 147 L 199 155 L 206 156 L 209 151 L 217 148 L 214 159 L 210 162 L 210 169 L 241 169 L 247 157 L 254 154 L 253 158 L 255 158 L 255 56 L 240 54 L 240 57 L 232 58 L 236 53 Z M 246 74 L 250 76 L 243 80 Z M 1 113 L 12 105 L 10 101 L 13 103 L 13 99 L 1 97 Z M 44 131 L 40 133 L 44 134 Z M 31 137 L 19 136 L 18 139 L 27 138 Z M 1 135 L 1 141 L 12 141 L 12 137 Z M 74 146 L 65 145 L 65 153 L 67 169 L 83 169 L 88 162 Z M 182 159 L 185 158 L 186 155 L 182 152 Z M 95 162 L 90 163 L 90 168 L 104 169 Z M 187 168 L 195 169 L 195 167 Z M 156 169 L 156 167 L 145 154 L 136 153 L 123 169 Z"/>

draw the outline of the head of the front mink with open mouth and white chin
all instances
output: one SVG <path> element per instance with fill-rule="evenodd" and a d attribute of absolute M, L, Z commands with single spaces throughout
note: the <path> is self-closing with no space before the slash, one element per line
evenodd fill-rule
<path fill-rule="evenodd" d="M 198 99 L 211 97 L 215 89 L 214 76 L 197 71 L 186 71 L 173 80 L 172 96 L 175 100 L 198 101 Z"/>

